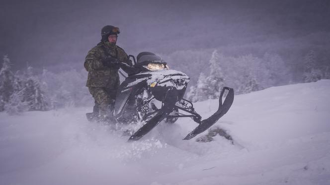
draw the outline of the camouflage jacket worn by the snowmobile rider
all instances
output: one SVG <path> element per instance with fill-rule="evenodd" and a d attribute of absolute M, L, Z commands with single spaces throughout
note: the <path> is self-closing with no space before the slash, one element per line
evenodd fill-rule
<path fill-rule="evenodd" d="M 117 45 L 111 46 L 107 42 L 100 42 L 87 53 L 84 62 L 84 67 L 88 71 L 87 87 L 111 87 L 112 83 L 117 82 L 118 69 L 103 66 L 101 62 L 108 55 L 117 58 L 120 62 L 132 65 L 122 48 Z"/>

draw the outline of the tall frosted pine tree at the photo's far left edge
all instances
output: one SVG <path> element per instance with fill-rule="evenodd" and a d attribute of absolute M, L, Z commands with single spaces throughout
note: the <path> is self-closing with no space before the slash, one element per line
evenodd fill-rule
<path fill-rule="evenodd" d="M 4 110 L 5 104 L 9 102 L 13 93 L 14 74 L 11 72 L 10 67 L 11 62 L 8 56 L 5 55 L 0 70 L 0 112 Z"/>

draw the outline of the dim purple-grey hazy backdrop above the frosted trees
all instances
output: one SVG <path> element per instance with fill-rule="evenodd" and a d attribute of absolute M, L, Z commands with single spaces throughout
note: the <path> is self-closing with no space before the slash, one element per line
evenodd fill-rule
<path fill-rule="evenodd" d="M 1 0 L 0 54 L 15 69 L 77 67 L 108 24 L 128 54 L 165 55 L 330 32 L 329 20 L 329 0 Z"/>

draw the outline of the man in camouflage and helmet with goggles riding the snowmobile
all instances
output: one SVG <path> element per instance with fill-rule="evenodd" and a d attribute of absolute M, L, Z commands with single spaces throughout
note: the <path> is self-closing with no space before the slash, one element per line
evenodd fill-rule
<path fill-rule="evenodd" d="M 93 113 L 97 114 L 101 122 L 111 120 L 110 109 L 120 84 L 120 62 L 132 65 L 125 51 L 116 45 L 119 33 L 117 27 L 104 26 L 101 30 L 101 42 L 88 52 L 84 62 L 88 71 L 86 86 L 95 100 Z"/>

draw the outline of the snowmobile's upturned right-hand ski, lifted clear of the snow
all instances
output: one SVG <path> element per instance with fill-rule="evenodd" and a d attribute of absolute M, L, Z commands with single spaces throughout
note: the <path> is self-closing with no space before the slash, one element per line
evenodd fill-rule
<path fill-rule="evenodd" d="M 224 96 L 224 93 L 227 92 L 227 96 L 224 100 L 224 103 L 222 103 L 222 98 Z M 196 135 L 202 133 L 203 131 L 207 130 L 209 127 L 211 127 L 214 123 L 216 123 L 222 116 L 224 116 L 230 107 L 232 106 L 234 101 L 234 90 L 229 87 L 224 87 L 221 91 L 220 97 L 219 97 L 219 108 L 218 111 L 215 112 L 212 116 L 205 119 L 200 123 L 193 131 L 191 131 L 184 140 L 191 139 L 195 137 Z"/>

